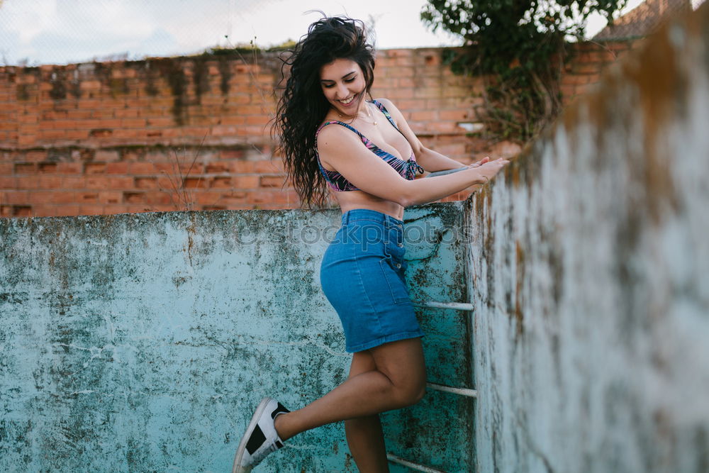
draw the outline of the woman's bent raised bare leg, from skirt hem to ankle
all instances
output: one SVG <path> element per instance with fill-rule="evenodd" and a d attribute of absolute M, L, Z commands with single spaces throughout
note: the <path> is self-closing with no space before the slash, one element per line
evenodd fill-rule
<path fill-rule="evenodd" d="M 279 437 L 286 440 L 320 425 L 411 406 L 423 397 L 426 373 L 420 338 L 385 343 L 367 353 L 374 369 L 358 372 L 311 404 L 278 416 Z"/>

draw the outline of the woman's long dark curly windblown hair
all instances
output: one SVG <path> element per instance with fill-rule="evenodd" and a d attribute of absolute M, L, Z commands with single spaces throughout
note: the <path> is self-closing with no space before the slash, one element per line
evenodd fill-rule
<path fill-rule="evenodd" d="M 311 24 L 289 52 L 281 72 L 290 67 L 290 77 L 278 101 L 272 134 L 279 138 L 277 152 L 284 157 L 301 202 L 320 207 L 325 204 L 327 186 L 318 168 L 315 133 L 330 108 L 320 86 L 320 68 L 336 59 L 357 62 L 364 75 L 364 92 L 369 95 L 374 82 L 374 45 L 368 42 L 362 21 L 334 16 Z"/>

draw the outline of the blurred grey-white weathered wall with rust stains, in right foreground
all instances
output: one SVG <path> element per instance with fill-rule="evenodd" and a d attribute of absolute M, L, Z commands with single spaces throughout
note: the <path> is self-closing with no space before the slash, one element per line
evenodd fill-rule
<path fill-rule="evenodd" d="M 709 471 L 709 5 L 474 196 L 479 472 Z"/>

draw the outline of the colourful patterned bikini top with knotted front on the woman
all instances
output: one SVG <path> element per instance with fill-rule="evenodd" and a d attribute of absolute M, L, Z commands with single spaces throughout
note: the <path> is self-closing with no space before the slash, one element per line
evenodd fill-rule
<path fill-rule="evenodd" d="M 396 130 L 401 133 L 401 130 L 396 127 L 396 123 L 394 123 L 394 121 L 391 119 L 391 115 L 389 115 L 389 112 L 386 111 L 386 108 L 384 108 L 384 105 L 380 104 L 376 100 L 373 100 L 372 104 L 376 105 L 376 107 L 381 110 L 381 113 L 384 113 L 384 116 L 386 116 L 386 119 L 389 120 L 391 126 L 396 128 Z M 328 169 L 325 169 L 320 163 L 320 155 L 318 155 L 318 134 L 320 134 L 320 130 L 322 130 L 325 126 L 328 126 L 332 123 L 337 123 L 337 125 L 342 125 L 345 128 L 350 128 L 350 130 L 354 131 L 354 133 L 357 133 L 357 135 L 359 135 L 359 138 L 362 140 L 362 143 L 364 143 L 364 146 L 374 152 L 375 155 L 381 157 L 381 159 L 384 160 L 386 164 L 396 169 L 396 172 L 398 172 L 404 179 L 408 179 L 409 181 L 411 181 L 415 178 L 417 172 L 419 174 L 423 174 L 423 167 L 420 167 L 420 165 L 418 165 L 418 163 L 416 162 L 415 157 L 413 156 L 413 151 L 411 152 L 411 157 L 408 159 L 408 161 L 400 160 L 398 157 L 391 155 L 389 152 L 386 152 L 379 148 L 379 146 L 369 141 L 369 138 L 362 135 L 362 133 L 359 133 L 357 129 L 348 125 L 347 123 L 337 120 L 326 121 L 325 123 L 320 125 L 320 128 L 318 128 L 315 133 L 316 156 L 318 157 L 318 167 L 320 167 L 320 173 L 323 174 L 323 177 L 325 177 L 325 181 L 327 181 L 328 184 L 330 184 L 330 187 L 335 189 L 335 191 L 358 191 L 359 189 L 357 189 L 357 187 L 354 187 L 354 184 L 345 179 L 342 174 L 337 171 L 328 171 Z"/>

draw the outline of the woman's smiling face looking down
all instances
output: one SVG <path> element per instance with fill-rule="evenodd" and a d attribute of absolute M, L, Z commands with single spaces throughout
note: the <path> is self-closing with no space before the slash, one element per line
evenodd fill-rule
<path fill-rule="evenodd" d="M 367 83 L 362 68 L 350 59 L 336 59 L 320 68 L 320 87 L 325 99 L 342 115 L 357 114 Z"/>

